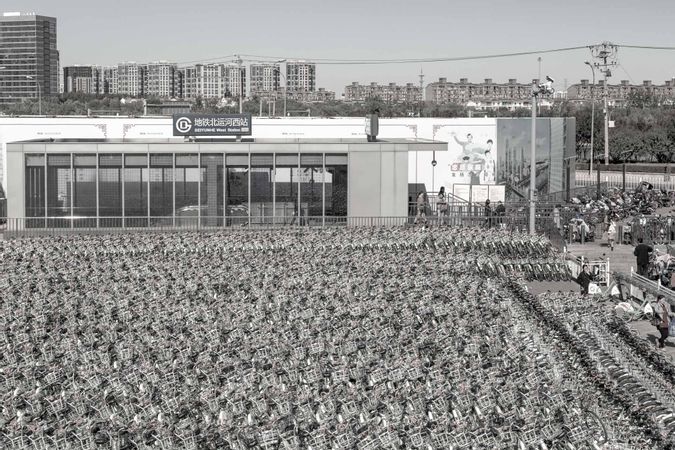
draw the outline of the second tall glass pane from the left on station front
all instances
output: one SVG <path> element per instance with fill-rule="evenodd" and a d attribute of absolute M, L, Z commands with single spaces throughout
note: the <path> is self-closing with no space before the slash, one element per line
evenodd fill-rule
<path fill-rule="evenodd" d="M 70 216 L 71 198 L 70 154 L 47 156 L 47 215 Z M 70 220 L 53 219 L 50 227 L 70 227 Z"/>

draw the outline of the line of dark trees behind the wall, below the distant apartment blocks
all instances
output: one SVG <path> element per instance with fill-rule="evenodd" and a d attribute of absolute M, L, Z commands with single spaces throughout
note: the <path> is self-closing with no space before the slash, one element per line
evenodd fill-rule
<path fill-rule="evenodd" d="M 149 98 L 148 104 L 161 103 L 160 99 Z M 258 98 L 243 102 L 243 111 L 254 116 L 271 114 L 267 100 Z M 6 115 L 37 115 L 37 99 L 28 99 L 1 107 Z M 474 110 L 460 104 L 390 103 L 379 98 L 370 98 L 365 102 L 330 101 L 325 103 L 301 103 L 287 100 L 288 115 L 309 115 L 313 117 L 363 117 L 377 112 L 380 117 L 529 117 L 529 109 L 495 108 Z M 237 113 L 236 100 L 221 102 L 218 99 L 198 98 L 192 107 L 193 112 Z M 283 99 L 277 99 L 275 115 L 283 114 Z M 42 113 L 57 115 L 105 115 L 141 116 L 144 104 L 141 99 L 125 99 L 122 96 L 95 96 L 81 93 L 63 94 L 58 97 L 46 97 L 42 100 Z M 587 161 L 591 142 L 591 105 L 588 102 L 559 100 L 551 108 L 542 108 L 540 117 L 576 118 L 577 156 Z M 625 106 L 610 108 L 610 120 L 615 126 L 609 130 L 609 159 L 612 163 L 621 162 L 675 162 L 675 106 L 666 104 L 649 93 L 632 93 Z M 604 159 L 604 123 L 601 103 L 596 104 L 593 127 L 594 159 Z"/>

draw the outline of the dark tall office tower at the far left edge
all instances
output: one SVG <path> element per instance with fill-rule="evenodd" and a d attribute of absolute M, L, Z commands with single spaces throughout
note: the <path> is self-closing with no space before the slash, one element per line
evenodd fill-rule
<path fill-rule="evenodd" d="M 36 14 L 0 17 L 0 103 L 59 93 L 56 19 Z"/>

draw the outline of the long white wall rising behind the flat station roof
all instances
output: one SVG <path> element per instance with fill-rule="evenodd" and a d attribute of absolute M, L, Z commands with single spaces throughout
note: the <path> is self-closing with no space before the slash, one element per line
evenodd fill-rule
<path fill-rule="evenodd" d="M 379 137 L 428 139 L 450 142 L 451 133 L 466 136 L 493 136 L 496 133 L 495 119 L 461 118 L 398 118 L 380 119 Z M 172 135 L 172 120 L 169 117 L 2 117 L 0 118 L 0 182 L 7 179 L 6 142 L 31 139 L 169 139 Z M 253 118 L 253 137 L 268 139 L 346 139 L 365 136 L 365 120 L 353 118 L 289 117 L 282 119 Z M 177 138 L 180 139 L 180 138 Z M 452 140 L 453 152 L 456 150 Z M 495 140 L 496 142 L 496 140 Z M 450 182 L 449 164 L 453 154 L 437 152 L 438 164 L 431 165 L 430 152 L 408 154 L 408 180 L 410 183 L 425 183 L 427 189 L 438 190 Z M 433 186 L 432 186 L 433 185 Z M 432 189 L 433 188 L 433 189 Z"/>

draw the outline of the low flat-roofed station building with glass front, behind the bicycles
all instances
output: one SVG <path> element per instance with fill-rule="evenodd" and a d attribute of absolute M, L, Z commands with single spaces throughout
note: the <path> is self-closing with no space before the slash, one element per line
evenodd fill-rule
<path fill-rule="evenodd" d="M 25 227 L 325 224 L 408 213 L 404 139 L 38 140 L 7 145 L 8 217 Z"/>

